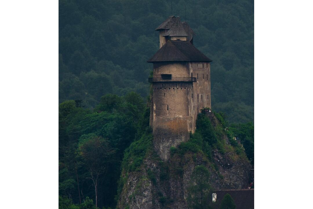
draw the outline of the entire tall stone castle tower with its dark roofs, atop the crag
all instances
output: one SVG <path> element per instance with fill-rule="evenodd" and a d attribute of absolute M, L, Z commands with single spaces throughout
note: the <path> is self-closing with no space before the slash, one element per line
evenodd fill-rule
<path fill-rule="evenodd" d="M 153 63 L 150 125 L 153 145 L 163 160 L 170 148 L 194 133 L 198 113 L 211 108 L 210 60 L 193 45 L 196 35 L 186 22 L 171 16 L 159 27 L 160 49 Z"/>

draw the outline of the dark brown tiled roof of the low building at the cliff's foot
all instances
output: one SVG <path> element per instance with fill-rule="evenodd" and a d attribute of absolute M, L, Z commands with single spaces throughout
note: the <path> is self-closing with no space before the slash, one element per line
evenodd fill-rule
<path fill-rule="evenodd" d="M 216 193 L 216 202 L 213 204 L 214 209 L 218 209 L 224 196 L 229 194 L 237 209 L 253 209 L 254 208 L 254 189 L 241 189 L 241 190 L 221 190 L 213 191 Z M 211 197 L 212 201 L 212 197 Z"/>

